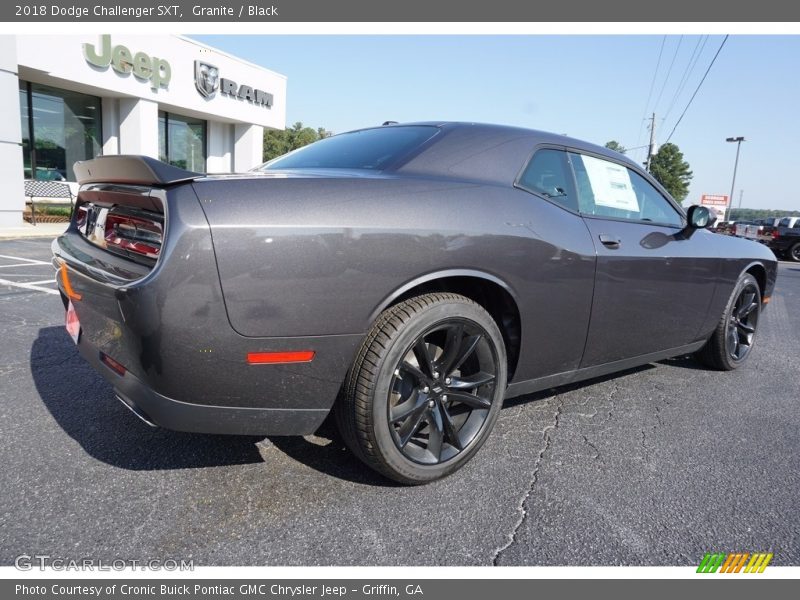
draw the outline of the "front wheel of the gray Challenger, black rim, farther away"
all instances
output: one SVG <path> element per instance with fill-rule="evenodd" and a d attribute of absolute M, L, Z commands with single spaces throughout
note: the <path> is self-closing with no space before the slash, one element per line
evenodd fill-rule
<path fill-rule="evenodd" d="M 745 273 L 733 288 L 714 333 L 697 356 L 720 371 L 737 369 L 753 349 L 761 316 L 761 289 L 756 278 Z"/>

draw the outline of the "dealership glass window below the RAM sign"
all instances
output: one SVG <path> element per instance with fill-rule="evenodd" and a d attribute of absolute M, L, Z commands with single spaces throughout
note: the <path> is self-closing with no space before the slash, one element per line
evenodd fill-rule
<path fill-rule="evenodd" d="M 206 122 L 159 111 L 158 158 L 181 169 L 204 173 Z"/>

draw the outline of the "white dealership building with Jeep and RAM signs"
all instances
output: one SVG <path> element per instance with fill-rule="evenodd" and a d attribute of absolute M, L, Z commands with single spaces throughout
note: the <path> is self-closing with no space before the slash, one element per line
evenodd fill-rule
<path fill-rule="evenodd" d="M 79 160 L 258 165 L 264 129 L 285 126 L 286 77 L 179 36 L 0 36 L 0 111 L 0 227 L 16 227 L 24 181 L 74 182 Z"/>

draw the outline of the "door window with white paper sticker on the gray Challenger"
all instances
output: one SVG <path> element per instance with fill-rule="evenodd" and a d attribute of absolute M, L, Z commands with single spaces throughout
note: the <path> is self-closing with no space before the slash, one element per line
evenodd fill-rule
<path fill-rule="evenodd" d="M 583 214 L 682 226 L 678 211 L 636 171 L 593 156 L 569 157 Z"/>

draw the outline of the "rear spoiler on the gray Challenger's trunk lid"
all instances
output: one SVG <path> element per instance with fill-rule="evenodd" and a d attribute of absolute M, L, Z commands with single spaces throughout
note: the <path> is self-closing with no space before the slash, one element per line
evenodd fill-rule
<path fill-rule="evenodd" d="M 78 183 L 127 183 L 133 185 L 171 185 L 205 177 L 204 173 L 185 171 L 150 158 L 114 154 L 82 160 L 73 166 Z"/>

